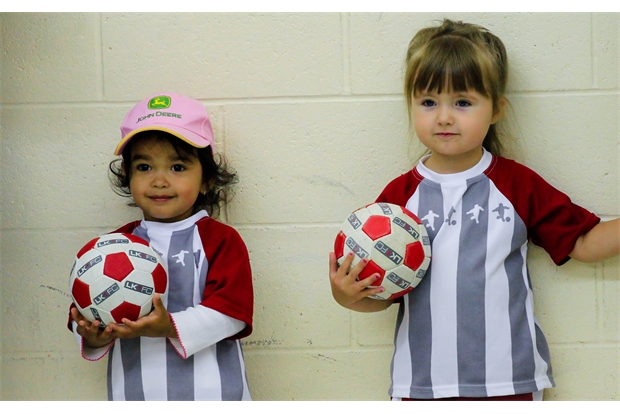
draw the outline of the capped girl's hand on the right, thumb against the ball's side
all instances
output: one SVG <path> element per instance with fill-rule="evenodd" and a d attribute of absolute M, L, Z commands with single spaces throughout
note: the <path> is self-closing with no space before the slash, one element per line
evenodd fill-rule
<path fill-rule="evenodd" d="M 112 336 L 116 338 L 135 338 L 138 336 L 149 336 L 152 338 L 174 338 L 176 331 L 170 320 L 170 314 L 164 307 L 158 294 L 153 297 L 154 309 L 151 313 L 137 321 L 123 319 L 123 325 L 112 326 Z"/>

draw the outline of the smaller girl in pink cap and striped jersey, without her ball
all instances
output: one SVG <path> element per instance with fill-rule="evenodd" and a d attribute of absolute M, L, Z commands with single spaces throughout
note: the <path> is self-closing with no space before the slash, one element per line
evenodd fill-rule
<path fill-rule="evenodd" d="M 252 332 L 247 248 L 213 219 L 236 181 L 204 106 L 162 93 L 135 105 L 110 163 L 115 191 L 144 218 L 115 232 L 150 242 L 168 265 L 167 303 L 123 325 L 101 327 L 71 308 L 69 328 L 82 356 L 109 354 L 110 400 L 249 400 L 240 338 Z"/>

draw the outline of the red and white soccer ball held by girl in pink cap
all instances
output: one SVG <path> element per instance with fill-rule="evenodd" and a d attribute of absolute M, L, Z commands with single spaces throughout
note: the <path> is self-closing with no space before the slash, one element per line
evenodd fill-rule
<path fill-rule="evenodd" d="M 97 237 L 78 252 L 69 289 L 89 321 L 122 324 L 151 312 L 153 295 L 168 294 L 168 274 L 159 254 L 144 239 L 125 233 Z"/>

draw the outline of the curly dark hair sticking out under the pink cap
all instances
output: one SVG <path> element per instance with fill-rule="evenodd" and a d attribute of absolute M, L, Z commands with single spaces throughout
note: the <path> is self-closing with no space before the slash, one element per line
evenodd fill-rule
<path fill-rule="evenodd" d="M 230 201 L 230 187 L 238 182 L 237 173 L 230 170 L 228 162 L 221 154 L 213 154 L 211 146 L 195 148 L 164 131 L 144 131 L 136 134 L 123 149 L 121 157 L 112 160 L 109 165 L 109 178 L 114 192 L 123 197 L 131 197 L 129 183 L 131 169 L 124 166 L 131 165 L 131 151 L 136 142 L 142 138 L 166 140 L 175 149 L 179 158 L 196 156 L 202 166 L 202 180 L 207 183 L 207 192 L 199 193 L 194 203 L 194 213 L 207 210 L 210 216 L 218 217 L 223 204 Z M 137 207 L 133 201 L 128 205 Z"/>

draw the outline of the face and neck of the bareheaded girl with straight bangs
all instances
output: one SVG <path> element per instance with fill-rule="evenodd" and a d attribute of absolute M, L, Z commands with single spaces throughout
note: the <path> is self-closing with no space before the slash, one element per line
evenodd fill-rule
<path fill-rule="evenodd" d="M 500 118 L 493 102 L 470 90 L 416 94 L 412 105 L 416 135 L 431 150 L 425 165 L 438 173 L 465 171 L 480 161 L 489 126 Z"/>

